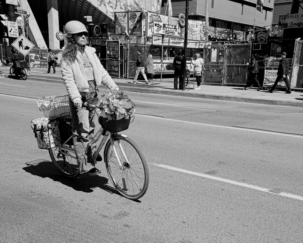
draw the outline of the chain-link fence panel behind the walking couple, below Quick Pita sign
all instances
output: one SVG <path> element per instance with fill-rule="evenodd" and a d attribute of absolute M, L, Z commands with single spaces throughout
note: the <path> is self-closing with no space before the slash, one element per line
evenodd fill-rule
<path fill-rule="evenodd" d="M 136 61 L 137 61 L 137 50 L 142 51 L 142 56 L 146 57 L 148 55 L 149 46 L 144 45 L 132 45 L 128 44 L 127 47 L 128 56 L 127 56 L 127 77 L 134 78 L 136 75 Z"/>

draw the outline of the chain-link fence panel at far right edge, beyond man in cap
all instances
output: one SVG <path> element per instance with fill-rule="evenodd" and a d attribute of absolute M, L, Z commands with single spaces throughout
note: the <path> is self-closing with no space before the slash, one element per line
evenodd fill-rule
<path fill-rule="evenodd" d="M 291 68 L 291 88 L 303 89 L 303 41 L 296 40 Z"/>

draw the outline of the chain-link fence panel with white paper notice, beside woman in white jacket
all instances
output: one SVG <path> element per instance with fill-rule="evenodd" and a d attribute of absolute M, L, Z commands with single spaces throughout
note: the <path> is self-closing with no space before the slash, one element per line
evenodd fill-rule
<path fill-rule="evenodd" d="M 224 45 L 206 46 L 204 49 L 203 84 L 223 84 L 224 75 Z"/>

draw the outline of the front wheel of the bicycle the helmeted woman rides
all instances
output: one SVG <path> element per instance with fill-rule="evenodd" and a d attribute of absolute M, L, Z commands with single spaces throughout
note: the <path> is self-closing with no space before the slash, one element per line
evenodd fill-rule
<path fill-rule="evenodd" d="M 148 188 L 149 172 L 145 157 L 138 145 L 129 137 L 113 135 L 105 145 L 104 162 L 108 176 L 118 192 L 128 199 L 142 197 Z M 120 166 L 123 165 L 123 168 Z"/>

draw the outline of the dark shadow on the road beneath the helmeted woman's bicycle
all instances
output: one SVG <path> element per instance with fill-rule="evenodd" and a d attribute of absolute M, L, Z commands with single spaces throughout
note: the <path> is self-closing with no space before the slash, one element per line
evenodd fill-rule
<path fill-rule="evenodd" d="M 115 188 L 108 186 L 110 181 L 104 176 L 88 176 L 86 174 L 79 174 L 75 178 L 68 178 L 61 175 L 51 161 L 43 160 L 42 162 L 29 162 L 27 164 L 28 166 L 23 168 L 26 172 L 42 178 L 48 177 L 54 181 L 58 181 L 68 187 L 71 187 L 76 191 L 89 193 L 94 191 L 93 188 L 100 187 L 102 190 L 109 193 L 120 195 Z"/>

